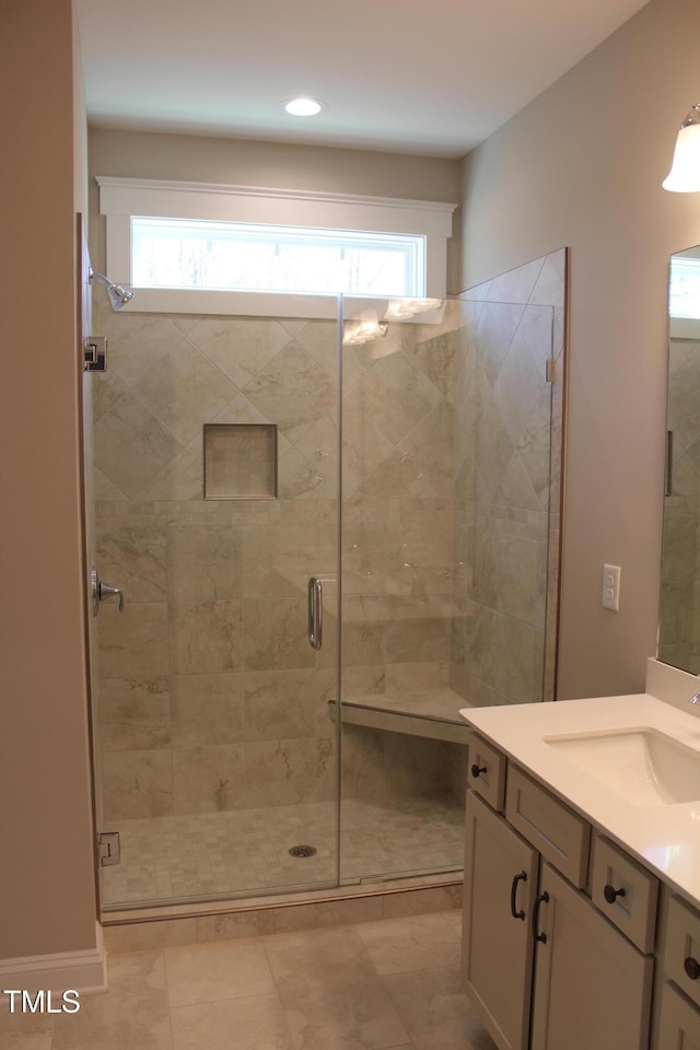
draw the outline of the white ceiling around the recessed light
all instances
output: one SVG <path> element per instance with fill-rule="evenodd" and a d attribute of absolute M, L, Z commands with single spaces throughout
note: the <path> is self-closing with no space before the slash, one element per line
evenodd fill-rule
<path fill-rule="evenodd" d="M 75 0 L 91 122 L 463 156 L 645 0 Z M 290 117 L 288 98 L 327 108 Z"/>

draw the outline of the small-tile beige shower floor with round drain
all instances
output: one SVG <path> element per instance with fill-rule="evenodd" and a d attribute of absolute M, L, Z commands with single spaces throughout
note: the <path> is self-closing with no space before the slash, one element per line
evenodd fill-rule
<path fill-rule="evenodd" d="M 447 794 L 390 807 L 348 800 L 341 808 L 341 880 L 422 874 L 462 866 L 464 813 Z M 336 878 L 335 806 L 119 820 L 121 862 L 103 868 L 108 907 L 171 898 L 268 892 Z M 294 845 L 313 856 L 294 858 Z"/>

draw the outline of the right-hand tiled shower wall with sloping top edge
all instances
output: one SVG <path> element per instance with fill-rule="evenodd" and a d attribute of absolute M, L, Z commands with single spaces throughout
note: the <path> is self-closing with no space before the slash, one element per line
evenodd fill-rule
<path fill-rule="evenodd" d="M 555 693 L 564 293 L 561 249 L 465 296 L 451 684 L 470 704 Z"/>

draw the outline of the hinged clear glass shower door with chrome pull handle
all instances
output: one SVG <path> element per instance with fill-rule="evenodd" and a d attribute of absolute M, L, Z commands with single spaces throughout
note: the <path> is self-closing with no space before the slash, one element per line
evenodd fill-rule
<path fill-rule="evenodd" d="M 337 885 L 337 302 L 93 310 L 103 908 Z"/>

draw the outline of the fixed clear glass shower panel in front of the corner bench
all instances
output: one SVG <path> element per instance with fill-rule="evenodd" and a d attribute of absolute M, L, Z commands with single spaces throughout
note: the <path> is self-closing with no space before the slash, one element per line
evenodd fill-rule
<path fill-rule="evenodd" d="M 428 305 L 343 299 L 346 884 L 460 868 L 459 709 L 553 688 L 555 312 Z"/>

